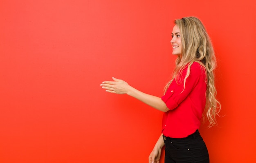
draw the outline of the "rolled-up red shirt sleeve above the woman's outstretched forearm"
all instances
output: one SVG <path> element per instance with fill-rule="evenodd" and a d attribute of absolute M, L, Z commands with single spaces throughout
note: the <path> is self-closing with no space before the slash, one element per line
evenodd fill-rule
<path fill-rule="evenodd" d="M 179 106 L 182 101 L 189 96 L 189 93 L 193 90 L 198 83 L 199 78 L 205 78 L 205 72 L 199 63 L 193 63 L 190 69 L 190 75 L 186 79 L 184 88 L 184 78 L 186 76 L 187 67 L 182 71 L 180 81 L 174 79 L 168 87 L 166 94 L 162 96 L 162 100 L 166 103 L 168 109 L 172 110 Z"/>

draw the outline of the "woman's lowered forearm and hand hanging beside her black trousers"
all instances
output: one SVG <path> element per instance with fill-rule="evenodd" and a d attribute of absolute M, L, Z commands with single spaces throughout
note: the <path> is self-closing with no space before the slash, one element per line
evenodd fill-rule
<path fill-rule="evenodd" d="M 155 147 L 153 148 L 152 152 L 148 156 L 148 163 L 159 163 L 162 147 L 164 147 L 164 139 L 163 134 L 160 135 Z"/>

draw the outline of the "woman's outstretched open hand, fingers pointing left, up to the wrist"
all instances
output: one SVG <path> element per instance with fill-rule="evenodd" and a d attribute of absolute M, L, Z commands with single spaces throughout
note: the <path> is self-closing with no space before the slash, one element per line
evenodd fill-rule
<path fill-rule="evenodd" d="M 114 81 L 103 81 L 101 88 L 106 89 L 106 92 L 115 94 L 127 94 L 130 85 L 124 80 L 112 77 Z"/>

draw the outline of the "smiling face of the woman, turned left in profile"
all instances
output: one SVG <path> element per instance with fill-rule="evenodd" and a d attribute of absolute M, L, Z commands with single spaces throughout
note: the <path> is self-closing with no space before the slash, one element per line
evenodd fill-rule
<path fill-rule="evenodd" d="M 173 55 L 180 55 L 182 50 L 180 28 L 175 25 L 173 27 L 171 45 L 173 46 Z"/>

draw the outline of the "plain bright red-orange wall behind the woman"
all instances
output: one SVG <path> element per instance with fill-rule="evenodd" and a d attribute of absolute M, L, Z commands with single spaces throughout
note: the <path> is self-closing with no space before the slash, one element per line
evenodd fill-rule
<path fill-rule="evenodd" d="M 218 58 L 211 163 L 255 162 L 255 1 L 1 0 L 0 162 L 147 162 L 162 113 L 99 86 L 112 76 L 162 96 L 173 20 L 197 16 Z"/>

